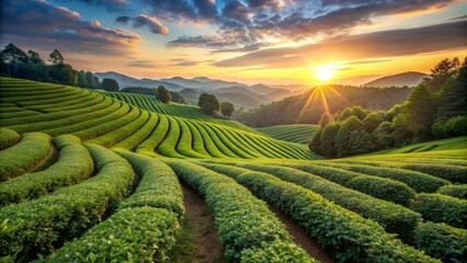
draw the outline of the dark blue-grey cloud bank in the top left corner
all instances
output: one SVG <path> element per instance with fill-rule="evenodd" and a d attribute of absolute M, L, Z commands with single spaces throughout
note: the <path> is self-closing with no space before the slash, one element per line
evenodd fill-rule
<path fill-rule="evenodd" d="M 4 0 L 2 37 L 18 45 L 72 53 L 128 55 L 140 41 L 136 33 L 107 28 L 99 21 L 83 20 L 78 12 L 44 0 Z"/>

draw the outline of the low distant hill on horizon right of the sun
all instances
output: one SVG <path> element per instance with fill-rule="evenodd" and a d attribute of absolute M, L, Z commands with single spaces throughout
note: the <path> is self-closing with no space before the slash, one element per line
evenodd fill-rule
<path fill-rule="evenodd" d="M 365 83 L 364 87 L 415 87 L 420 84 L 422 80 L 426 77 L 429 76 L 425 73 L 409 71 L 403 73 L 385 76 L 383 78 Z"/>

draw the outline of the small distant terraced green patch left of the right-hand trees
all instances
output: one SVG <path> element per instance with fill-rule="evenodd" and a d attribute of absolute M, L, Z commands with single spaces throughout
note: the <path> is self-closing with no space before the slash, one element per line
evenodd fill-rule
<path fill-rule="evenodd" d="M 318 127 L 319 125 L 312 124 L 289 124 L 257 128 L 257 130 L 275 139 L 308 144 Z"/>

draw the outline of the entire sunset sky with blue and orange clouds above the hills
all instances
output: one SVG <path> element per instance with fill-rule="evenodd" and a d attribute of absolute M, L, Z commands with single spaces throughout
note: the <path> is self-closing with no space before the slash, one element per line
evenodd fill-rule
<path fill-rule="evenodd" d="M 467 56 L 467 0 L 2 0 L 0 44 L 92 72 L 316 84 Z"/>

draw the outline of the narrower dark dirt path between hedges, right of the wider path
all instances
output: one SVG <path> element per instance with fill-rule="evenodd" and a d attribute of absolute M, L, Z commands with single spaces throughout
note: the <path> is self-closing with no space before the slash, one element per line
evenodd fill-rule
<path fill-rule="evenodd" d="M 323 250 L 315 239 L 308 237 L 307 230 L 304 227 L 296 224 L 293 219 L 291 219 L 277 208 L 271 205 L 269 206 L 269 208 L 277 216 L 282 224 L 285 225 L 285 228 L 293 237 L 295 243 L 300 245 L 312 258 L 317 259 L 321 263 L 335 263 L 334 258 L 329 252 Z"/>

